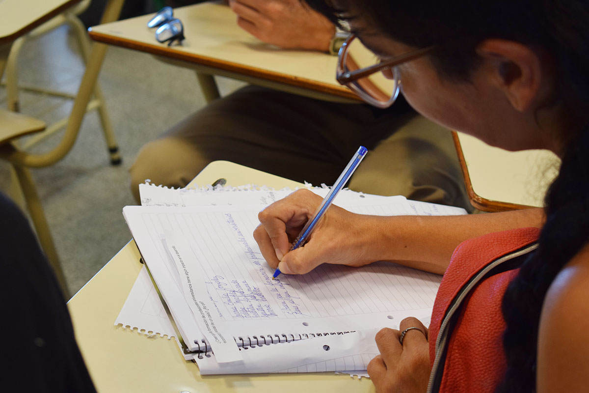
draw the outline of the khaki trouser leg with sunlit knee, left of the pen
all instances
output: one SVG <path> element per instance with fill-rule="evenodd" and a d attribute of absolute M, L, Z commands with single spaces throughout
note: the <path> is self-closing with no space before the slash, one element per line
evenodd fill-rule
<path fill-rule="evenodd" d="M 312 184 L 332 184 L 360 144 L 391 134 L 397 110 L 312 100 L 248 86 L 213 101 L 146 144 L 131 172 L 138 184 L 184 187 L 207 164 L 227 160 Z M 402 111 L 401 111 L 402 112 Z M 373 129 L 378 124 L 380 127 Z"/>

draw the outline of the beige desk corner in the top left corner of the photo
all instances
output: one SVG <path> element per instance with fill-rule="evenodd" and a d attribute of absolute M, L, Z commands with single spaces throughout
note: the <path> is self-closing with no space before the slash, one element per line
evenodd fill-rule
<path fill-rule="evenodd" d="M 0 0 L 0 43 L 14 41 L 81 0 Z"/>

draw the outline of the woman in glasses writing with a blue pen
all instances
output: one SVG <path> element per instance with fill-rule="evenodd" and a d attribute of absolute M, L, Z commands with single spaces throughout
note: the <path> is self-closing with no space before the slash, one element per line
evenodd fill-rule
<path fill-rule="evenodd" d="M 380 67 L 350 73 L 340 52 L 339 80 L 368 103 L 394 101 L 397 87 L 366 88 L 383 72 L 425 117 L 507 150 L 549 149 L 562 166 L 545 209 L 376 217 L 332 206 L 287 252 L 320 203 L 297 191 L 260 213 L 269 265 L 302 274 L 390 260 L 444 273 L 429 331 L 409 318 L 376 336 L 378 391 L 587 391 L 589 2 L 307 2 L 349 23 L 347 47 L 361 40 L 378 56 Z"/>

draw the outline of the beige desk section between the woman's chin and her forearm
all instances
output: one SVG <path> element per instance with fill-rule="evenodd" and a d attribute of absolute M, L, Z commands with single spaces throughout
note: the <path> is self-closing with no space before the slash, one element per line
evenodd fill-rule
<path fill-rule="evenodd" d="M 560 167 L 554 153 L 505 151 L 462 133 L 455 134 L 455 142 L 475 207 L 497 212 L 544 206 L 544 194 Z"/>

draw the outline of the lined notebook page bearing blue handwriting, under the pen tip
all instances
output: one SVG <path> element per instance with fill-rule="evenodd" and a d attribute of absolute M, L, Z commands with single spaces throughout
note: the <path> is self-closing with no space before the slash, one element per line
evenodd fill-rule
<path fill-rule="evenodd" d="M 393 211 L 394 206 L 378 203 L 348 209 L 365 214 L 399 214 Z M 403 206 L 405 209 L 409 210 Z M 184 263 L 191 261 L 190 283 L 193 288 L 206 289 L 204 298 L 210 302 L 207 311 L 217 331 L 236 341 L 268 338 L 270 342 L 274 337 L 396 326 L 405 316 L 429 314 L 440 277 L 393 263 L 362 268 L 321 265 L 307 275 L 272 280 L 273 269 L 267 266 L 252 237 L 259 210 L 259 205 L 232 209 L 125 207 L 135 242 L 193 351 L 209 344 L 217 355 L 218 342 L 211 342 L 194 318 L 177 263 L 167 249 L 171 243 L 188 244 L 190 251 L 186 247 L 176 249 Z M 174 233 L 181 235 L 175 237 Z M 186 255 L 182 255 L 183 249 Z M 262 353 L 262 349 L 256 351 Z"/>

